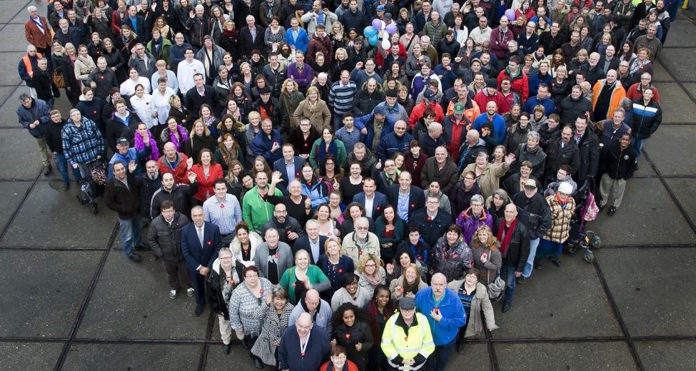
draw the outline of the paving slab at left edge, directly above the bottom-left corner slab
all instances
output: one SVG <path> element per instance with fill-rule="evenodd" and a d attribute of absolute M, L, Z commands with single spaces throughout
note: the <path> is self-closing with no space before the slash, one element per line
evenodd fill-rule
<path fill-rule="evenodd" d="M 67 337 L 99 251 L 0 250 L 0 337 Z"/>

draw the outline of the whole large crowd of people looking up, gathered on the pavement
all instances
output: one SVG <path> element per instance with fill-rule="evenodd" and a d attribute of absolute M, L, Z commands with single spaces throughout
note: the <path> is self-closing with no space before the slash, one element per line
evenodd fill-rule
<path fill-rule="evenodd" d="M 445 370 L 561 266 L 575 196 L 620 208 L 677 1 L 27 11 L 17 116 L 44 173 L 104 164 L 126 258 L 209 307 L 225 354 L 234 334 L 258 368 Z"/>

